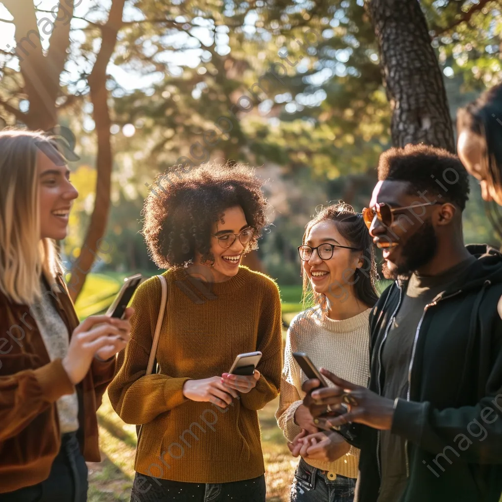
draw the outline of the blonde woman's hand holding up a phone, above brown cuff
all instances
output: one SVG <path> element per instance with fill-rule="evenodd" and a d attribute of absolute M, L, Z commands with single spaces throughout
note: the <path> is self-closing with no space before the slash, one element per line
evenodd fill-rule
<path fill-rule="evenodd" d="M 61 361 L 73 385 L 84 379 L 96 352 L 105 347 L 126 346 L 130 328 L 123 331 L 124 323 L 129 324 L 129 321 L 107 315 L 90 316 L 73 330 L 68 352 Z M 106 353 L 110 350 L 107 349 Z"/>

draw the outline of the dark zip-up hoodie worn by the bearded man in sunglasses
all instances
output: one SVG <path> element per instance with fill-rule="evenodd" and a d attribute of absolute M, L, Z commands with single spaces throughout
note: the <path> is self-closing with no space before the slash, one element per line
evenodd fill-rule
<path fill-rule="evenodd" d="M 396 406 L 392 432 L 406 439 L 409 474 L 400 502 L 498 502 L 502 491 L 502 255 L 481 244 L 467 249 L 476 262 L 424 310 L 408 399 Z M 382 346 L 406 287 L 390 286 L 369 318 L 369 388 L 377 393 L 385 379 Z M 380 432 L 358 432 L 356 500 L 375 502 Z"/>

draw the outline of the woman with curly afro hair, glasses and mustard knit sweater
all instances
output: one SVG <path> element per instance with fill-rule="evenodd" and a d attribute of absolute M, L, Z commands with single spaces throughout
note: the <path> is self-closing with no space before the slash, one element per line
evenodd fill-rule
<path fill-rule="evenodd" d="M 108 390 L 122 420 L 142 425 L 132 500 L 265 502 L 257 411 L 280 387 L 281 302 L 272 279 L 240 265 L 267 223 L 262 182 L 245 166 L 212 164 L 156 183 L 143 233 L 168 269 L 158 372 L 145 375 L 161 301 L 154 277 L 135 295 Z M 254 374 L 228 374 L 254 351 Z"/>

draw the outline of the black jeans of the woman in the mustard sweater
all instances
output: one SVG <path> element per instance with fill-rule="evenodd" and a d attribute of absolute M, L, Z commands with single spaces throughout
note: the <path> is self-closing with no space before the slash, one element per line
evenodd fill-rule
<path fill-rule="evenodd" d="M 265 475 L 232 483 L 181 483 L 136 473 L 131 502 L 265 502 Z"/>

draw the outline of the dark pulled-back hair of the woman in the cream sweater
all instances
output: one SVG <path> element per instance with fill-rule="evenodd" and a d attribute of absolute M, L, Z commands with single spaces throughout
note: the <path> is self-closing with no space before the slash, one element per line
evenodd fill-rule
<path fill-rule="evenodd" d="M 376 290 L 378 274 L 376 273 L 371 236 L 362 219 L 362 215 L 356 213 L 350 204 L 342 200 L 327 207 L 321 207 L 317 211 L 317 214 L 305 225 L 302 244 L 305 244 L 305 240 L 312 227 L 321 221 L 334 221 L 336 229 L 343 238 L 347 239 L 349 245 L 362 251 L 361 258 L 366 262 L 366 268 L 361 267 L 361 269 L 355 270 L 356 282 L 354 285 L 354 294 L 364 305 L 372 307 L 379 298 Z M 313 303 L 319 304 L 322 310 L 325 310 L 325 295 L 316 294 L 312 290 L 312 285 L 307 275 L 303 274 L 304 307 L 306 304 L 311 303 L 311 300 L 313 300 Z"/>

